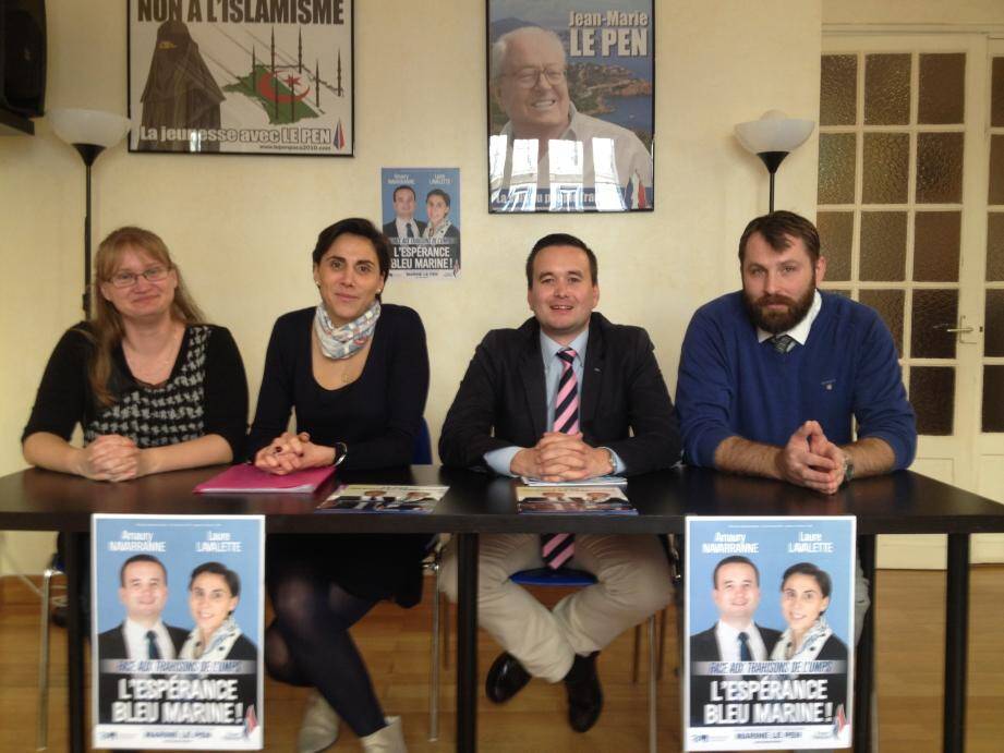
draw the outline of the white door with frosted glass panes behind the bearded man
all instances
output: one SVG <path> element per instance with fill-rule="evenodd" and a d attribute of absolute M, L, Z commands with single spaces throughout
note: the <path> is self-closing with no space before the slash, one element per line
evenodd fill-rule
<path fill-rule="evenodd" d="M 914 470 L 1004 502 L 997 44 L 824 35 L 818 222 L 825 287 L 876 308 L 896 339 L 920 433 Z M 973 561 L 988 560 L 1004 561 L 1004 537 L 975 543 Z M 879 564 L 943 567 L 944 538 L 885 537 Z"/>

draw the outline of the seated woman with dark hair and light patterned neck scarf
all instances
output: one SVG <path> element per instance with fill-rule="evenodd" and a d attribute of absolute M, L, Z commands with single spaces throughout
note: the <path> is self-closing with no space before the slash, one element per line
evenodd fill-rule
<path fill-rule="evenodd" d="M 320 302 L 279 317 L 268 343 L 249 438 L 254 463 L 275 474 L 408 465 L 428 392 L 428 353 L 419 315 L 380 302 L 389 242 L 368 220 L 344 219 L 320 232 L 313 263 Z M 298 751 L 334 743 L 338 717 L 365 750 L 406 750 L 400 719 L 385 719 L 349 628 L 380 599 L 419 603 L 426 543 L 418 535 L 268 537 L 276 611 L 265 636 L 268 669 L 316 689 Z"/>

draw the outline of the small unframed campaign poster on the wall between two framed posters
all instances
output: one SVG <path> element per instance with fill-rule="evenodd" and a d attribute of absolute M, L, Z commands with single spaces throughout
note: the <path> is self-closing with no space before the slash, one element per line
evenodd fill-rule
<path fill-rule="evenodd" d="M 460 168 L 383 168 L 380 205 L 392 277 L 460 277 Z"/>

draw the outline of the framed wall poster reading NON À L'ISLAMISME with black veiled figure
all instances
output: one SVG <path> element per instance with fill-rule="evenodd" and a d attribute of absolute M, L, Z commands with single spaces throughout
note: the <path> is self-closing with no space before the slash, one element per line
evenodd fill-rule
<path fill-rule="evenodd" d="M 130 0 L 130 151 L 351 156 L 353 0 Z"/>

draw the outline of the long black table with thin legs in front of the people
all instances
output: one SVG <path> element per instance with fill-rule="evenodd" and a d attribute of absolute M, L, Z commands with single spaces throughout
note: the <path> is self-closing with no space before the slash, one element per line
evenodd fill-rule
<path fill-rule="evenodd" d="M 945 633 L 944 750 L 965 742 L 968 628 L 969 535 L 1004 532 L 1004 506 L 910 472 L 855 481 L 824 497 L 778 482 L 694 469 L 646 474 L 627 494 L 638 517 L 518 515 L 516 482 L 469 471 L 414 466 L 339 475 L 339 482 L 439 484 L 449 493 L 430 515 L 400 513 L 314 514 L 315 498 L 304 495 L 193 495 L 191 489 L 219 469 L 166 473 L 124 484 L 88 482 L 47 471 L 0 478 L 0 530 L 49 530 L 68 534 L 68 567 L 76 561 L 81 534 L 93 512 L 124 514 L 264 514 L 267 533 L 453 533 L 458 535 L 459 607 L 457 657 L 457 748 L 476 746 L 477 536 L 482 533 L 682 533 L 684 518 L 700 515 L 843 515 L 858 518 L 859 551 L 874 581 L 875 534 L 948 534 L 948 588 Z M 322 489 L 317 496 L 326 489 Z M 557 521 L 560 521 L 557 523 Z M 69 599 L 78 604 L 80 573 L 68 571 Z M 858 647 L 855 743 L 868 750 L 868 700 L 873 675 L 873 619 L 866 619 Z M 71 750 L 84 750 L 83 647 L 80 615 L 70 609 L 69 704 Z"/>

